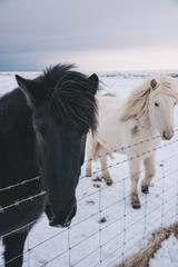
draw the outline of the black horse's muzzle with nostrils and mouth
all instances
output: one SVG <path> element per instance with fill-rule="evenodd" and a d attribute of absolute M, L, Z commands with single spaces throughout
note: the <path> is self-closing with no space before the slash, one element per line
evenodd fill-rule
<path fill-rule="evenodd" d="M 52 205 L 47 204 L 46 206 L 46 214 L 49 219 L 49 225 L 53 227 L 68 227 L 71 224 L 72 218 L 75 217 L 77 212 L 77 204 L 75 202 L 73 206 L 71 207 L 71 211 L 69 215 L 62 216 L 62 212 L 60 216 L 56 215 L 55 211 L 52 210 Z"/>

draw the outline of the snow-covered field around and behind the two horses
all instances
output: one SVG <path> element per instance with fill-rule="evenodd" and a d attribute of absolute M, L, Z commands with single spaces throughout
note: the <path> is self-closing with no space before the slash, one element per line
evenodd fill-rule
<path fill-rule="evenodd" d="M 176 71 L 166 73 L 177 75 Z M 34 78 L 39 73 L 19 72 L 19 75 Z M 119 91 L 127 98 L 150 72 L 98 75 L 103 89 L 100 92 Z M 14 73 L 0 73 L 0 95 L 16 86 Z M 175 128 L 178 128 L 178 107 L 175 108 Z M 100 175 L 98 162 L 93 164 L 93 170 L 97 172 L 91 178 L 85 177 L 83 165 L 77 188 L 78 212 L 71 226 L 68 229 L 51 228 L 43 215 L 28 236 L 23 267 L 116 266 L 131 253 L 146 246 L 154 229 L 175 222 L 178 219 L 178 132 L 171 140 L 161 142 L 160 147 L 157 151 L 157 172 L 150 192 L 144 195 L 139 190 L 141 200 L 139 210 L 134 210 L 129 201 L 128 162 L 121 164 L 126 159 L 125 156 L 115 154 L 115 159 L 109 161 L 115 181 L 110 187 L 103 180 L 101 182 L 92 180 Z M 112 165 L 115 166 L 111 167 Z M 100 222 L 103 217 L 106 221 Z M 170 237 L 165 241 L 162 251 L 160 249 L 156 259 L 151 259 L 150 266 L 178 266 L 176 250 L 178 241 Z M 3 251 L 2 246 L 0 251 Z M 2 257 L 0 264 L 3 266 Z"/>

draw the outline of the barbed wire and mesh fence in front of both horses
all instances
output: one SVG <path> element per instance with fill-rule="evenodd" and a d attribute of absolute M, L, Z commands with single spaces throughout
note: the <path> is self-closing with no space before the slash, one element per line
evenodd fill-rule
<path fill-rule="evenodd" d="M 127 162 L 127 161 L 129 161 L 129 160 L 134 160 L 135 158 L 141 157 L 141 156 L 144 156 L 144 155 L 149 155 L 149 154 L 152 152 L 152 151 L 156 151 L 156 150 L 158 150 L 158 149 L 164 149 L 164 148 L 166 148 L 166 147 L 168 147 L 168 146 L 175 145 L 176 142 L 178 142 L 178 139 L 176 139 L 176 140 L 174 140 L 174 141 L 170 141 L 170 142 L 167 142 L 167 144 L 164 144 L 162 146 L 159 146 L 159 147 L 157 147 L 156 149 L 151 149 L 151 150 L 149 150 L 149 151 L 147 151 L 147 152 L 137 155 L 136 157 L 131 157 L 131 158 L 128 158 L 128 159 L 126 159 L 126 160 L 120 160 L 120 161 L 118 161 L 118 162 L 115 162 L 113 165 L 109 165 L 108 168 L 113 168 L 113 167 L 116 167 L 116 166 L 122 165 L 122 164 L 125 164 L 125 162 Z M 129 147 L 128 147 L 128 148 L 129 148 Z M 168 157 L 165 158 L 164 160 L 161 159 L 161 160 L 157 161 L 155 165 L 158 166 L 158 165 L 160 165 L 161 162 L 166 162 L 166 161 L 168 161 L 168 160 L 171 161 L 171 160 L 172 160 L 174 158 L 176 158 L 176 157 L 178 157 L 178 154 L 174 154 L 174 155 L 171 155 L 171 156 L 168 156 Z M 164 164 L 162 164 L 162 165 L 164 165 Z M 152 167 L 152 166 L 151 166 L 151 167 Z M 151 168 L 151 167 L 149 167 L 149 168 Z M 144 172 L 146 169 L 148 169 L 148 168 L 141 169 L 141 172 Z M 103 169 L 99 169 L 99 170 L 97 170 L 97 171 L 93 171 L 92 175 L 95 175 L 95 174 L 97 174 L 97 172 L 99 172 L 99 171 L 102 171 L 102 170 L 103 170 Z M 162 170 L 162 172 L 164 172 L 164 170 Z M 165 178 L 167 178 L 167 177 L 175 176 L 177 172 L 178 172 L 178 169 L 174 169 L 174 170 L 169 171 L 168 174 L 162 174 L 162 176 L 161 176 L 158 180 L 156 180 L 155 184 L 156 184 L 156 182 L 159 182 L 162 178 L 165 179 Z M 82 176 L 81 176 L 81 178 L 82 178 Z M 80 178 L 80 179 L 81 179 L 81 178 Z M 60 258 L 62 255 L 65 255 L 65 254 L 67 254 L 67 253 L 69 254 L 69 258 L 70 258 L 69 261 L 71 263 L 71 266 L 78 266 L 78 265 L 80 265 L 80 264 L 81 264 L 85 259 L 87 259 L 88 257 L 92 257 L 92 255 L 93 255 L 95 253 L 99 253 L 99 254 L 100 254 L 100 256 L 99 256 L 99 261 L 98 261 L 95 266 L 102 266 L 102 263 L 106 261 L 108 258 L 111 258 L 112 255 L 115 255 L 117 251 L 119 251 L 119 249 L 121 249 L 120 254 L 121 254 L 121 257 L 122 257 L 122 258 L 123 258 L 125 256 L 127 256 L 127 254 L 129 253 L 128 249 L 127 249 L 128 243 L 129 243 L 129 241 L 132 243 L 132 239 L 137 238 L 137 236 L 139 237 L 140 233 L 141 233 L 141 234 L 144 233 L 144 230 L 141 229 L 139 233 L 135 234 L 134 237 L 128 240 L 128 238 L 126 238 L 125 235 L 126 235 L 126 233 L 127 233 L 129 229 L 131 229 L 134 226 L 136 226 L 140 220 L 145 220 L 144 229 L 145 229 L 145 231 L 146 231 L 146 234 L 147 234 L 147 233 L 148 233 L 148 229 L 151 228 L 154 224 L 157 224 L 157 221 L 159 221 L 160 218 L 162 219 L 162 216 L 166 216 L 166 215 L 169 214 L 169 212 L 170 212 L 170 215 L 171 215 L 171 211 L 177 212 L 177 211 L 176 211 L 176 207 L 177 207 L 177 206 L 171 207 L 168 211 L 166 211 L 166 210 L 162 208 L 162 207 L 164 207 L 165 205 L 167 205 L 169 201 L 171 202 L 171 200 L 172 200 L 174 198 L 176 199 L 176 197 L 177 197 L 176 194 L 175 194 L 175 195 L 171 194 L 171 196 L 169 196 L 169 199 L 164 199 L 164 197 L 162 197 L 161 205 L 157 206 L 154 210 L 149 210 L 148 212 L 146 211 L 146 208 L 147 208 L 147 206 L 149 205 L 149 202 L 151 202 L 154 199 L 156 199 L 156 197 L 152 197 L 152 198 L 150 198 L 150 199 L 147 199 L 147 196 L 146 196 L 146 201 L 142 204 L 142 207 L 145 208 L 145 214 L 144 214 L 144 216 L 140 217 L 137 221 L 134 221 L 131 225 L 126 226 L 127 217 L 130 216 L 131 212 L 135 212 L 134 209 L 130 209 L 129 211 L 126 210 L 126 201 L 128 200 L 129 195 L 126 195 L 125 181 L 126 181 L 127 179 L 129 179 L 129 178 L 130 178 L 130 176 L 127 176 L 127 177 L 122 178 L 121 180 L 113 182 L 113 186 L 116 186 L 116 185 L 119 184 L 119 182 L 122 182 L 122 185 L 123 185 L 123 188 L 122 188 L 122 190 L 123 190 L 123 196 L 122 196 L 122 198 L 117 199 L 117 200 L 115 200 L 112 204 L 107 205 L 107 206 L 105 206 L 105 207 L 101 207 L 101 191 L 107 190 L 108 188 L 110 188 L 110 187 L 108 187 L 108 186 L 105 186 L 103 188 L 99 188 L 99 189 L 96 190 L 95 192 L 91 192 L 91 194 L 89 194 L 89 195 L 86 195 L 86 196 L 80 197 L 80 198 L 78 199 L 78 202 L 83 201 L 87 197 L 91 197 L 91 196 L 93 196 L 93 195 L 96 195 L 96 194 L 99 194 L 99 199 L 100 199 L 100 200 L 99 200 L 99 208 L 98 208 L 98 210 L 97 210 L 96 212 L 92 212 L 92 215 L 89 215 L 89 216 L 87 216 L 86 218 L 77 221 L 76 224 L 72 224 L 69 228 L 62 229 L 61 231 L 57 233 L 56 235 L 50 236 L 50 237 L 47 238 L 46 240 L 43 240 L 43 241 L 41 241 L 41 243 L 38 243 L 36 246 L 30 247 L 30 245 L 28 244 L 28 249 L 23 253 L 23 255 L 24 255 L 24 254 L 31 254 L 32 250 L 34 250 L 37 247 L 39 247 L 40 245 L 42 245 L 42 244 L 44 244 L 44 243 L 48 243 L 50 239 L 52 239 L 52 238 L 55 238 L 55 237 L 58 237 L 59 235 L 61 235 L 61 234 L 65 233 L 65 231 L 69 231 L 69 230 L 71 231 L 71 230 L 73 230 L 75 227 L 77 227 L 78 225 L 80 225 L 80 224 L 83 222 L 83 221 L 87 221 L 87 220 L 88 220 L 89 218 L 91 218 L 91 217 L 99 216 L 98 218 L 101 219 L 101 212 L 107 211 L 109 208 L 112 208 L 112 207 L 115 207 L 117 204 L 119 204 L 119 202 L 122 201 L 122 202 L 123 202 L 123 206 L 125 206 L 125 211 L 122 212 L 122 215 L 120 215 L 118 218 L 115 218 L 113 221 L 111 221 L 111 222 L 109 222 L 109 224 L 107 224 L 107 225 L 103 225 L 103 226 L 102 226 L 102 225 L 100 224 L 100 225 L 99 225 L 99 228 L 98 228 L 97 230 L 95 230 L 95 231 L 93 231 L 92 234 L 90 234 L 89 236 L 82 238 L 80 241 L 77 241 L 76 244 L 72 244 L 72 245 L 71 245 L 71 244 L 70 244 L 70 238 L 68 237 L 68 244 L 69 244 L 68 248 L 65 249 L 63 251 L 61 251 L 60 254 L 56 255 L 55 257 L 52 257 L 51 259 L 49 259 L 48 261 L 46 261 L 46 263 L 44 263 L 43 265 L 41 265 L 41 266 L 47 266 L 48 264 L 52 263 L 53 260 L 57 260 L 58 258 Z M 39 179 L 40 179 L 40 177 L 34 177 L 34 178 L 32 178 L 32 180 L 39 180 Z M 10 190 L 11 188 L 14 188 L 14 187 L 17 187 L 17 186 L 22 186 L 22 185 L 24 185 L 26 182 L 30 182 L 30 181 L 31 181 L 31 179 L 21 181 L 21 182 L 19 182 L 19 184 L 9 186 L 9 187 L 7 187 L 7 188 L 1 188 L 1 189 L 0 189 L 0 192 L 1 192 L 1 191 L 4 191 L 4 190 Z M 175 186 L 177 186 L 177 182 L 174 182 L 171 186 L 169 186 L 169 187 L 167 186 L 166 189 L 164 189 L 164 188 L 165 188 L 165 185 L 164 185 L 164 186 L 162 186 L 162 190 L 161 190 L 162 195 L 164 195 L 166 191 L 168 191 L 168 190 L 175 189 Z M 6 212 L 6 210 L 7 210 L 8 208 L 11 208 L 11 207 L 13 207 L 13 206 L 19 206 L 19 205 L 21 205 L 21 204 L 23 204 L 23 202 L 26 202 L 26 201 L 32 200 L 32 199 L 36 198 L 36 197 L 43 196 L 44 194 L 46 194 L 46 191 L 41 191 L 41 192 L 39 192 L 39 194 L 37 194 L 37 195 L 33 195 L 33 196 L 30 196 L 30 197 L 28 197 L 28 198 L 26 198 L 26 199 L 17 200 L 17 201 L 14 201 L 14 204 L 11 204 L 11 205 L 9 205 L 9 206 L 7 206 L 7 207 L 1 208 L 1 209 L 0 209 L 0 212 Z M 178 201 L 177 201 L 177 202 L 178 202 Z M 160 208 L 162 208 L 162 209 L 161 209 L 160 218 L 159 218 L 159 219 L 156 218 L 155 221 L 151 221 L 151 224 L 149 224 L 149 226 L 147 226 L 146 219 L 148 218 L 148 216 L 151 216 L 156 210 L 159 210 Z M 175 216 L 175 215 L 174 215 L 174 216 Z M 174 216 L 172 216 L 172 217 L 174 217 Z M 43 217 L 44 217 L 44 215 L 42 216 L 42 218 L 43 218 Z M 121 219 L 123 220 L 123 221 L 122 221 L 122 224 L 123 224 L 122 230 L 120 230 L 120 233 L 117 233 L 115 236 L 110 237 L 107 241 L 102 241 L 102 239 L 101 239 L 102 233 L 106 231 L 107 228 L 111 227 L 113 224 L 117 224 L 117 222 L 118 222 L 119 220 L 121 220 Z M 17 230 L 13 230 L 13 231 L 11 231 L 11 233 L 8 233 L 8 234 L 3 235 L 2 237 L 7 236 L 7 235 L 12 235 L 12 234 L 14 234 L 16 231 L 18 231 L 19 229 L 22 229 L 22 228 L 24 228 L 24 227 L 27 227 L 27 226 L 30 226 L 30 224 L 34 224 L 36 221 L 37 221 L 37 220 L 34 220 L 34 221 L 32 221 L 32 222 L 29 222 L 29 224 L 27 224 L 26 226 L 23 226 L 23 227 L 21 227 L 21 228 L 18 228 Z M 99 219 L 98 219 L 98 221 L 99 221 Z M 144 234 L 144 235 L 146 235 L 146 234 Z M 113 240 L 117 240 L 117 238 L 118 238 L 119 236 L 122 236 L 122 235 L 123 235 L 123 243 L 120 245 L 120 248 L 117 247 L 116 249 L 113 249 L 115 251 L 111 251 L 111 254 L 107 255 L 106 257 L 102 257 L 102 254 L 101 254 L 102 249 L 105 249 L 105 247 L 106 247 L 108 244 L 111 244 Z M 72 265 L 72 258 L 71 258 L 71 255 L 70 255 L 71 249 L 75 249 L 75 248 L 79 247 L 80 244 L 85 244 L 89 238 L 91 238 L 91 237 L 93 237 L 93 236 L 98 236 L 98 240 L 99 240 L 99 246 L 98 246 L 98 248 L 96 248 L 93 251 L 88 253 L 87 255 L 85 255 L 82 258 L 80 258 L 79 260 L 77 260 L 77 261 Z M 140 240 L 139 240 L 139 241 L 140 241 Z M 126 247 L 126 249 L 125 249 L 125 247 Z M 30 258 L 30 255 L 29 255 L 29 258 Z M 119 259 L 119 256 L 117 257 L 117 259 Z M 30 259 L 28 259 L 28 265 L 30 266 Z M 3 265 L 1 265 L 1 266 L 3 266 Z M 93 267 L 95 267 L 95 266 L 93 266 Z M 106 265 L 105 265 L 105 266 L 106 266 Z M 110 264 L 107 265 L 107 266 L 110 266 Z"/>

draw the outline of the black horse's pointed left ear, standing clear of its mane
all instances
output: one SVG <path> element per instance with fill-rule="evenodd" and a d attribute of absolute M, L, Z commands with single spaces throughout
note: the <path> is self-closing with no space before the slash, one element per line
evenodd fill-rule
<path fill-rule="evenodd" d="M 26 95 L 29 106 L 34 107 L 41 99 L 41 85 L 34 80 L 23 79 L 18 75 L 16 75 L 16 80 Z"/>

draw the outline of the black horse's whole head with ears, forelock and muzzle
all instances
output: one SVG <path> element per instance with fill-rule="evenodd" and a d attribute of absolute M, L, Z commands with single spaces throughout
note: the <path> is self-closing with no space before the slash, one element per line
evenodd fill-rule
<path fill-rule="evenodd" d="M 76 215 L 86 135 L 97 122 L 98 77 L 88 78 L 71 67 L 58 65 L 34 80 L 16 77 L 32 109 L 50 226 L 69 226 Z"/>

